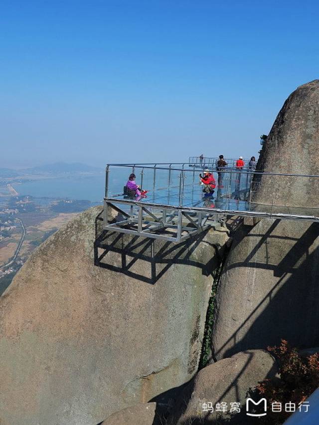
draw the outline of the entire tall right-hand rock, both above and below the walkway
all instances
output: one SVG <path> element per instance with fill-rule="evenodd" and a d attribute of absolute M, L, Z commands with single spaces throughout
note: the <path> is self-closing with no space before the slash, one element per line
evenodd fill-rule
<path fill-rule="evenodd" d="M 319 174 L 319 80 L 285 102 L 258 168 Z M 318 205 L 319 185 L 276 180 L 277 204 Z M 263 176 L 255 200 L 271 197 Z M 292 209 L 291 209 L 292 210 Z M 287 339 L 319 344 L 319 223 L 263 219 L 234 238 L 217 290 L 212 349 L 217 359 Z"/>

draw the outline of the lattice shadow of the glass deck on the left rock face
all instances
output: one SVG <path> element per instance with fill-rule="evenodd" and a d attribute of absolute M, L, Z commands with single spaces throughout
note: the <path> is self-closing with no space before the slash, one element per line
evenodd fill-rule
<path fill-rule="evenodd" d="M 196 238 L 189 238 L 180 243 L 160 241 L 116 231 L 104 231 L 102 214 L 103 211 L 96 217 L 94 264 L 97 267 L 155 284 L 173 265 L 197 267 L 204 276 L 209 276 L 214 264 L 221 262 L 220 247 L 205 240 L 208 230 L 197 234 Z M 164 231 L 167 233 L 167 230 Z M 195 256 L 192 257 L 201 243 L 207 246 L 207 249 L 213 249 L 213 255 L 206 263 L 196 260 Z"/>

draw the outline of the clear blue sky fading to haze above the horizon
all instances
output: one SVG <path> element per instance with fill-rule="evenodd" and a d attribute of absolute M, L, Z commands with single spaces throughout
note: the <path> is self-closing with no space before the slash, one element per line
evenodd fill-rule
<path fill-rule="evenodd" d="M 0 166 L 251 156 L 319 78 L 318 1 L 1 1 Z"/>

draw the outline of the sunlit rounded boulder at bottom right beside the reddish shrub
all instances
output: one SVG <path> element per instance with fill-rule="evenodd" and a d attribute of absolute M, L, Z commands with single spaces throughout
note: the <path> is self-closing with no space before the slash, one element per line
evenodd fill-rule
<path fill-rule="evenodd" d="M 276 373 L 277 366 L 274 358 L 263 350 L 237 353 L 231 358 L 206 366 L 194 378 L 191 398 L 186 410 L 183 409 L 184 413 L 177 420 L 177 424 L 214 424 L 218 413 L 215 409 L 213 413 L 203 412 L 203 403 L 210 402 L 214 408 L 216 403 L 226 403 L 228 411 L 231 408 L 230 403 L 237 402 L 244 406 L 249 389 L 256 387 L 258 382 L 266 378 L 274 377 Z M 179 409 L 177 408 L 177 411 Z M 227 417 L 226 413 L 221 415 L 224 419 Z M 175 420 L 170 418 L 168 423 L 175 424 Z M 247 423 L 247 416 L 245 421 Z M 220 424 L 220 422 L 217 423 Z"/>

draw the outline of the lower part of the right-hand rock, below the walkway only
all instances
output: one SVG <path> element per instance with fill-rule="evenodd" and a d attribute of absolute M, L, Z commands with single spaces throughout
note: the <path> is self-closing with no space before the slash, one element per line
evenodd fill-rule
<path fill-rule="evenodd" d="M 281 338 L 319 343 L 319 223 L 263 219 L 234 236 L 216 294 L 217 359 Z"/>

